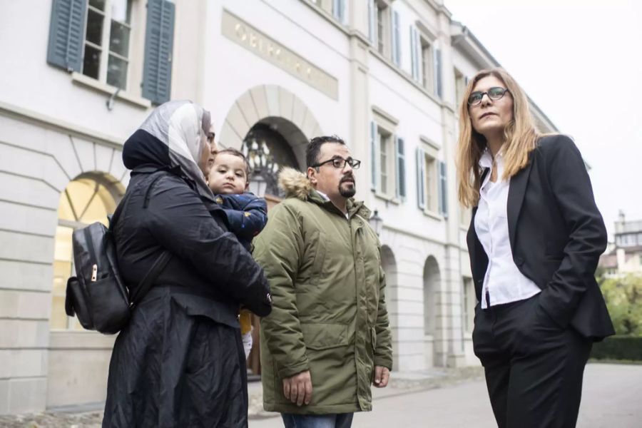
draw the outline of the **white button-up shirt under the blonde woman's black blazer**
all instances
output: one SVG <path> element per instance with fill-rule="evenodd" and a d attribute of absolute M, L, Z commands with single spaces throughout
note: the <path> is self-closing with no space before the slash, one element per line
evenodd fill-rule
<path fill-rule="evenodd" d="M 482 309 L 486 309 L 489 305 L 524 300 L 541 291 L 535 282 L 519 272 L 513 261 L 506 215 L 510 179 L 501 179 L 504 173 L 504 158 L 501 151 L 495 158 L 497 165 L 495 183 L 490 180 L 493 172 L 493 157 L 490 151 L 486 149 L 479 160 L 482 168 L 489 168 L 479 190 L 479 205 L 474 224 L 477 238 L 488 255 L 488 268 L 481 288 Z"/>

